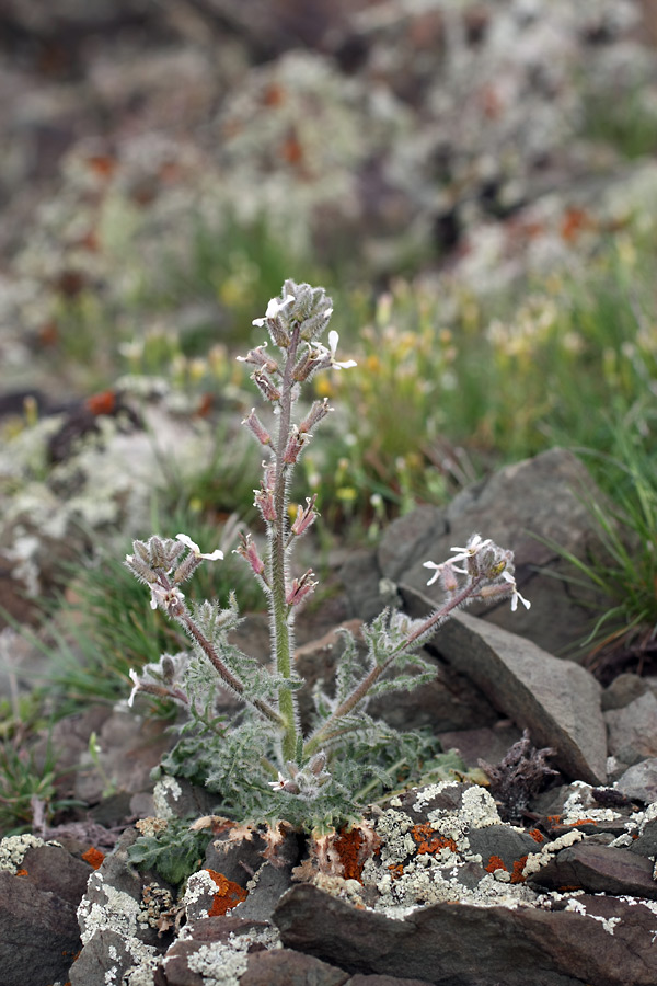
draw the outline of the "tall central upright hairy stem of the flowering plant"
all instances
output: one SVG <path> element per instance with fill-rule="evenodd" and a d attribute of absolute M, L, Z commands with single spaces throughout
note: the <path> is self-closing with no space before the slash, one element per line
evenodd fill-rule
<path fill-rule="evenodd" d="M 276 440 L 276 479 L 274 489 L 274 511 L 276 520 L 269 523 L 269 585 L 272 587 L 272 627 L 276 669 L 284 678 L 292 674 L 292 609 L 286 603 L 287 585 L 287 488 L 291 474 L 291 466 L 284 461 L 290 435 L 292 409 L 292 370 L 299 345 L 299 325 L 295 325 L 286 354 L 286 362 L 280 383 L 280 415 Z M 297 714 L 295 696 L 286 685 L 278 689 L 278 711 L 285 722 L 283 736 L 283 756 L 292 760 L 297 754 Z"/>

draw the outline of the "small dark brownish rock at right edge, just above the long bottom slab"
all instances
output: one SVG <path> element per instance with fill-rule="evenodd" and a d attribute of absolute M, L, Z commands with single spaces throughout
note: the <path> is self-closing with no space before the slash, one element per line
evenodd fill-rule
<path fill-rule="evenodd" d="M 625 849 L 578 842 L 557 852 L 532 882 L 550 890 L 584 890 L 589 894 L 616 894 L 657 901 L 653 863 Z"/>

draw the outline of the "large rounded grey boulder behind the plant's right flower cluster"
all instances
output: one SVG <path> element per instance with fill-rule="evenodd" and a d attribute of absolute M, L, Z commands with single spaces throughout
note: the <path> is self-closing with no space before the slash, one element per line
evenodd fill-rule
<path fill-rule="evenodd" d="M 586 506 L 586 498 L 593 496 L 603 498 L 579 460 L 564 449 L 551 449 L 468 486 L 443 509 L 423 507 L 393 523 L 379 548 L 381 574 L 437 603 L 441 589 L 438 583 L 427 587 L 423 562 L 445 561 L 452 546 L 465 544 L 479 531 L 514 551 L 518 587 L 532 606 L 511 612 L 505 600 L 493 607 L 475 605 L 471 611 L 552 654 L 563 653 L 587 632 L 590 610 L 575 601 L 572 588 L 560 580 L 568 565 L 551 546 L 581 560 L 596 547 L 601 551 Z M 592 600 L 592 594 L 583 597 Z"/>

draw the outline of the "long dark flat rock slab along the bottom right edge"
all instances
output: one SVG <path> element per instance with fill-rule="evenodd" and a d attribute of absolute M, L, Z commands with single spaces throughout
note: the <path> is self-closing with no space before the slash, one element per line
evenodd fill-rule
<path fill-rule="evenodd" d="M 655 914 L 645 903 L 585 894 L 561 906 L 441 903 L 393 920 L 295 886 L 274 919 L 286 948 L 354 973 L 450 986 L 654 986 Z"/>

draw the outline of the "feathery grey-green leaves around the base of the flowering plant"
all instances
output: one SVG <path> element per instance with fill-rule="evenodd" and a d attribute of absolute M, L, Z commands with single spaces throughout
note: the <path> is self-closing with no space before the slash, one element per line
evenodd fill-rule
<path fill-rule="evenodd" d="M 216 644 L 234 627 L 235 619 L 234 607 L 230 618 L 227 610 L 217 612 L 205 608 L 203 614 L 204 628 L 212 634 Z M 344 651 L 337 662 L 335 695 L 328 697 L 320 686 L 314 689 L 315 732 L 351 695 L 370 668 L 382 663 L 399 642 L 390 635 L 390 614 L 384 612 L 365 629 L 365 639 L 370 643 L 366 654 L 360 653 L 349 631 L 342 631 Z M 402 651 L 401 664 L 413 664 L 419 668 L 418 673 L 383 677 L 350 713 L 341 718 L 323 744 L 330 776 L 319 789 L 311 782 L 297 796 L 276 790 L 270 784 L 269 765 L 277 763 L 279 737 L 251 704 L 244 706 L 230 724 L 212 713 L 208 696 L 217 698 L 218 678 L 207 657 L 199 649 L 197 651 L 186 664 L 183 677 L 183 689 L 196 700 L 191 702 L 188 716 L 178 725 L 178 741 L 163 757 L 158 773 L 185 777 L 205 786 L 217 795 L 215 809 L 219 814 L 256 823 L 285 819 L 309 830 L 326 830 L 360 815 L 365 802 L 358 798 L 358 792 L 362 789 L 367 789 L 367 800 L 372 801 L 401 779 L 412 782 L 440 766 L 439 744 L 435 737 L 422 732 L 399 732 L 366 711 L 376 693 L 388 689 L 412 689 L 419 681 L 435 677 L 435 665 L 417 654 Z M 255 690 L 261 697 L 267 697 L 266 668 L 256 662 L 255 669 L 252 658 L 237 647 L 222 649 L 221 653 L 231 670 L 253 673 L 250 680 Z M 276 679 L 277 676 L 273 677 Z M 300 787 L 311 759 L 307 757 L 303 761 L 300 752 L 295 776 Z M 288 765 L 289 768 L 295 769 L 293 765 Z"/>

